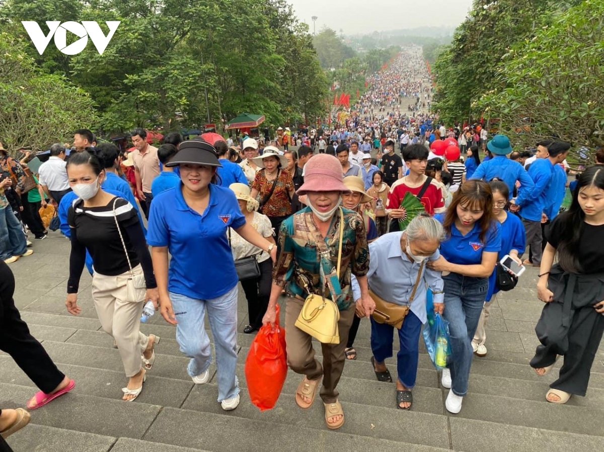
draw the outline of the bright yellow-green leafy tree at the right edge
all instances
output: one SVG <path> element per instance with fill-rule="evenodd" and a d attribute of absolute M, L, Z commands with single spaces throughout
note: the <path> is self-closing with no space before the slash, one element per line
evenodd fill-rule
<path fill-rule="evenodd" d="M 553 135 L 604 144 L 604 2 L 571 8 L 514 45 L 497 70 L 495 88 L 475 110 L 500 118 L 518 144 Z"/>

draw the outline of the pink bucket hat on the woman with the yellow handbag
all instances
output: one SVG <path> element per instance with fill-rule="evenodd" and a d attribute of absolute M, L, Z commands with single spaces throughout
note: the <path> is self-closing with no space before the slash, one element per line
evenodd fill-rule
<path fill-rule="evenodd" d="M 342 179 L 342 165 L 339 160 L 330 154 L 318 154 L 304 166 L 304 183 L 296 193 L 298 195 L 309 191 L 348 193 L 350 189 L 344 185 Z"/>

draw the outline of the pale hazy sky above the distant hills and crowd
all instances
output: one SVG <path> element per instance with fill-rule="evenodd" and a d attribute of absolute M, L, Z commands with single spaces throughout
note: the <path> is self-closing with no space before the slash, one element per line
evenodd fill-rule
<path fill-rule="evenodd" d="M 399 30 L 463 22 L 472 0 L 288 0 L 300 22 L 317 16 L 316 31 L 324 25 L 345 34 Z"/>

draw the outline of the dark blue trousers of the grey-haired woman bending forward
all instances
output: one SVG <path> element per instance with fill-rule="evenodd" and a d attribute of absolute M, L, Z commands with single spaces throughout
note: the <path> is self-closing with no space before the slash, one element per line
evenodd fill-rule
<path fill-rule="evenodd" d="M 382 363 L 392 357 L 392 333 L 394 326 L 377 323 L 371 320 L 371 352 L 376 362 Z M 400 350 L 396 354 L 396 370 L 400 383 L 407 389 L 413 389 L 417 377 L 419 361 L 419 334 L 422 331 L 422 321 L 416 314 L 409 311 L 399 333 Z"/>

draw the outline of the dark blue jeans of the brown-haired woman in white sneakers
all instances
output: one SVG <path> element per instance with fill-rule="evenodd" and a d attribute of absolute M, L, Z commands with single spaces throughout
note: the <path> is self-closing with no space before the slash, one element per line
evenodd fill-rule
<path fill-rule="evenodd" d="M 451 334 L 451 389 L 458 396 L 467 393 L 472 366 L 472 338 L 476 333 L 484 299 L 489 288 L 488 278 L 471 278 L 451 273 L 445 280 L 445 319 Z"/>

